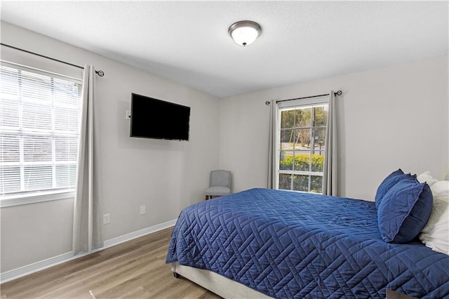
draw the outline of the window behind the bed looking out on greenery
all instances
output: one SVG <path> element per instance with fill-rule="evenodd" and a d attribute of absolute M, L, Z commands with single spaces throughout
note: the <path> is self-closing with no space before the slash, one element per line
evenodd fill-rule
<path fill-rule="evenodd" d="M 279 104 L 277 187 L 321 193 L 328 103 Z"/>

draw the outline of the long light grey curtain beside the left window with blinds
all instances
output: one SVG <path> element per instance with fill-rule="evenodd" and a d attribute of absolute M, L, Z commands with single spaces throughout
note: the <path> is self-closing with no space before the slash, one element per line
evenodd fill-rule
<path fill-rule="evenodd" d="M 93 193 L 93 101 L 95 71 L 84 66 L 78 171 L 74 201 L 73 251 L 91 253 L 102 247 L 98 197 Z"/>

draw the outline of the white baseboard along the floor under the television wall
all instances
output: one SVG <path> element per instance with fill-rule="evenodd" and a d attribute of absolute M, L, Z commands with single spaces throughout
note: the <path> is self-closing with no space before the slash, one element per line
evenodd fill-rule
<path fill-rule="evenodd" d="M 163 230 L 168 227 L 172 227 L 175 224 L 176 224 L 176 219 L 170 220 L 167 222 L 163 222 L 159 225 L 154 225 L 152 227 L 147 227 L 143 230 L 131 232 L 129 234 L 123 234 L 123 236 L 104 241 L 104 243 L 103 243 L 104 246 L 102 248 L 98 248 L 97 250 L 95 250 L 95 252 L 101 251 L 105 248 L 108 248 L 108 247 L 111 247 L 114 245 L 121 244 L 126 241 L 130 241 L 130 240 L 138 238 L 138 237 L 143 237 L 147 234 L 152 234 L 153 232 L 157 232 L 159 230 Z M 26 265 L 23 267 L 18 267 L 16 269 L 0 273 L 0 284 L 4 284 L 5 282 L 8 282 L 8 281 L 11 281 L 14 279 L 18 279 L 20 277 L 24 277 L 24 276 L 32 274 L 34 272 L 39 272 L 41 270 L 45 270 L 45 269 L 47 269 L 49 267 L 53 267 L 55 265 L 67 263 L 70 260 L 74 260 L 76 258 L 81 258 L 82 256 L 85 256 L 85 255 L 86 254 L 79 254 L 79 255 L 74 256 L 73 251 L 70 251 L 67 253 L 63 253 L 61 255 L 54 256 L 53 258 L 48 258 L 46 260 L 41 260 L 36 263 L 32 263 L 32 264 L 29 264 L 29 265 Z"/>

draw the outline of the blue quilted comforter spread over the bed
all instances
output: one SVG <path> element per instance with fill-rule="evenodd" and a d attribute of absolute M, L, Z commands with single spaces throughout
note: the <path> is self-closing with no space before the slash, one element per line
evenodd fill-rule
<path fill-rule="evenodd" d="M 173 230 L 174 261 L 274 298 L 449 298 L 449 256 L 385 243 L 375 204 L 358 199 L 252 189 L 194 204 Z"/>

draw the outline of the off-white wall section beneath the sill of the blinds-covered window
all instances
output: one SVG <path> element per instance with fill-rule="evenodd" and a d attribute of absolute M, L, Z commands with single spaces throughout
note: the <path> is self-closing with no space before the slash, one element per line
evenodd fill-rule
<path fill-rule="evenodd" d="M 1 208 L 1 272 L 72 251 L 73 199 Z"/>

